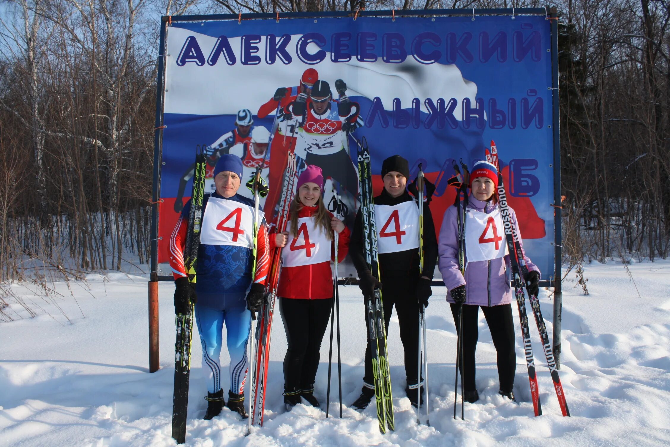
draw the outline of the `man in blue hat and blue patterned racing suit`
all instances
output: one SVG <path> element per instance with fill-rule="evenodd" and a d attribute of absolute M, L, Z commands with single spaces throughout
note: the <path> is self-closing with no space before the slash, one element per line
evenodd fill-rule
<path fill-rule="evenodd" d="M 220 353 L 222 328 L 230 355 L 230 389 L 227 406 L 244 418 L 244 385 L 247 377 L 247 342 L 251 312 L 263 302 L 269 271 L 269 241 L 263 212 L 259 212 L 257 241 L 253 239 L 254 202 L 239 194 L 243 162 L 237 155 L 221 155 L 214 167 L 216 190 L 205 194 L 200 248 L 196 263 L 197 285 L 192 288 L 184 267 L 184 246 L 191 202 L 187 202 L 170 238 L 170 267 L 176 291 L 175 312 L 195 318 L 202 344 L 202 369 L 207 382 L 205 419 L 217 416 L 226 405 L 222 389 Z M 253 248 L 256 246 L 256 257 Z M 253 263 L 255 275 L 252 277 Z"/>

